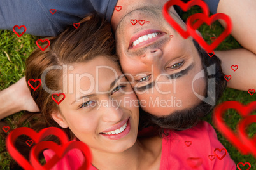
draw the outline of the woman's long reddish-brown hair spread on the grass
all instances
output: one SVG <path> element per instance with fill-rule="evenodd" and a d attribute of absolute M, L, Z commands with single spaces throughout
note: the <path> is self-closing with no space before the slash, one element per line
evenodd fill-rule
<path fill-rule="evenodd" d="M 63 65 L 86 62 L 97 56 L 106 56 L 118 63 L 110 23 L 97 15 L 85 17 L 80 21 L 80 26 L 77 29 L 69 26 L 59 36 L 46 39 L 50 41 L 50 46 L 45 51 L 39 48 L 35 49 L 27 58 L 26 82 L 29 79 L 42 79 L 43 72 L 49 67 L 57 66 L 62 68 Z M 46 44 L 41 46 L 44 48 Z M 48 70 L 45 75 L 45 81 L 42 81 L 42 85 L 35 91 L 28 86 L 31 96 L 36 101 L 36 105 L 38 105 L 41 112 L 26 112 L 20 118 L 18 126 L 29 124 L 29 127 L 35 131 L 49 126 L 61 128 L 51 117 L 51 113 L 59 109 L 58 105 L 52 100 L 52 93 L 45 89 L 48 88 L 51 91 L 62 90 L 62 69 Z M 39 82 L 36 81 L 34 87 L 38 86 L 38 84 Z M 69 128 L 61 129 L 68 134 L 70 140 L 75 138 Z M 53 136 L 50 137 L 45 140 L 57 141 L 56 138 L 52 138 Z M 16 141 L 16 147 L 28 159 L 31 147 L 25 144 L 26 140 L 28 140 L 26 136 L 20 136 Z M 13 161 L 10 169 L 20 169 L 20 167 Z"/>

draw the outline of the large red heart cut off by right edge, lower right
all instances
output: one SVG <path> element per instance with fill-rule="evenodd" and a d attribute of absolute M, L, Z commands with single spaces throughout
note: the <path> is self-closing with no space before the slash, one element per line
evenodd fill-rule
<path fill-rule="evenodd" d="M 245 131 L 246 127 L 252 123 L 256 123 L 256 115 L 248 115 L 245 119 L 242 119 L 238 124 L 238 134 L 256 158 L 256 136 L 250 139 Z"/>

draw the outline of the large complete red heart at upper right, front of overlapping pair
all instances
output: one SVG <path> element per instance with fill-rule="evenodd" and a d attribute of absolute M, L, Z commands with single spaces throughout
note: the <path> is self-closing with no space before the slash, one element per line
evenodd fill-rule
<path fill-rule="evenodd" d="M 203 20 L 204 22 L 207 23 L 207 25 L 211 25 L 211 23 L 213 23 L 215 20 L 218 19 L 222 19 L 224 20 L 227 24 L 227 26 L 225 27 L 224 32 L 222 32 L 222 34 L 220 34 L 220 36 L 217 37 L 217 39 L 215 39 L 215 41 L 213 41 L 211 43 L 211 45 L 208 45 L 203 37 L 201 37 L 199 34 L 197 34 L 196 29 L 197 26 L 192 25 L 192 23 L 195 20 Z M 188 17 L 187 19 L 187 29 L 188 32 L 190 33 L 190 36 L 192 36 L 203 48 L 205 51 L 210 52 L 213 51 L 213 49 L 217 48 L 217 46 L 224 41 L 224 39 L 229 36 L 229 34 L 231 34 L 231 30 L 232 30 L 232 22 L 231 22 L 231 18 L 229 18 L 229 16 L 225 15 L 224 13 L 217 13 L 215 15 L 211 15 L 210 17 L 208 17 L 208 15 L 205 15 L 203 13 L 196 13 L 194 15 L 191 15 Z"/>

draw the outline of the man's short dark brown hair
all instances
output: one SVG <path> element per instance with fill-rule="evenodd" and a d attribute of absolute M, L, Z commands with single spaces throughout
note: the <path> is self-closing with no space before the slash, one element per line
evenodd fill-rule
<path fill-rule="evenodd" d="M 204 70 L 204 77 L 206 81 L 206 91 L 204 97 L 208 97 L 207 95 L 215 93 L 215 98 L 213 100 L 217 101 L 222 96 L 223 91 L 227 86 L 227 81 L 225 81 L 224 79 L 225 75 L 222 72 L 221 60 L 215 55 L 210 57 L 208 53 L 206 53 L 206 51 L 204 51 L 204 49 L 201 48 L 201 46 L 199 46 L 196 41 L 193 40 L 193 42 L 197 48 L 199 56 L 201 57 L 201 63 Z M 208 67 L 214 64 L 215 74 L 208 75 Z M 215 78 L 215 81 L 208 81 L 208 78 Z M 216 88 L 211 88 L 214 85 Z M 204 101 L 201 101 L 201 103 L 193 108 L 189 108 L 186 110 L 177 110 L 176 112 L 161 117 L 148 114 L 145 111 L 141 110 L 142 112 L 140 114 L 140 127 L 157 126 L 160 136 L 164 134 L 164 128 L 175 131 L 189 129 L 193 126 L 196 126 L 200 118 L 208 115 L 214 107 L 215 105 L 210 105 L 208 102 L 206 103 Z"/>

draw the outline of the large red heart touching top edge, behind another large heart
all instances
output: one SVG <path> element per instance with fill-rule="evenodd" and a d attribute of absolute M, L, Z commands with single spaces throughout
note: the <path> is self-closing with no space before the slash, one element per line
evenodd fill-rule
<path fill-rule="evenodd" d="M 183 3 L 183 1 L 180 0 L 171 0 L 168 1 L 166 4 L 164 4 L 164 8 L 163 8 L 163 15 L 164 18 L 166 18 L 167 22 L 177 31 L 180 33 L 180 35 L 184 38 L 187 39 L 190 34 L 188 31 L 184 31 L 180 25 L 169 15 L 169 8 L 173 5 L 177 5 L 180 6 L 180 8 L 183 11 L 188 11 L 190 9 L 190 7 L 192 6 L 200 6 L 203 10 L 203 13 L 208 16 L 209 15 L 209 8 L 208 5 L 201 0 L 191 0 L 188 1 L 188 3 Z M 198 20 L 194 26 L 196 27 L 196 29 L 202 24 L 203 22 L 201 20 Z"/>

